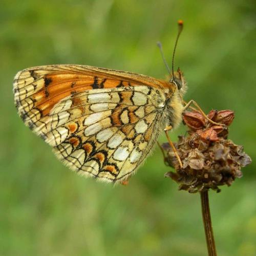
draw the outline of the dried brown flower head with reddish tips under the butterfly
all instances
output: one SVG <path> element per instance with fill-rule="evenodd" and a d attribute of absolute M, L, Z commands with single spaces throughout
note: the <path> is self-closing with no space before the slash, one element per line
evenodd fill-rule
<path fill-rule="evenodd" d="M 180 184 L 179 189 L 189 193 L 210 188 L 219 192 L 220 185 L 230 186 L 236 178 L 241 178 L 241 167 L 251 162 L 243 146 L 227 139 L 227 126 L 232 123 L 234 113 L 213 110 L 207 117 L 225 125 L 212 124 L 196 111 L 183 114 L 183 122 L 189 127 L 188 135 L 180 136 L 175 143 L 182 168 L 172 148 L 168 143 L 163 144 L 168 164 L 176 169 L 176 172 L 166 173 L 165 177 L 172 178 Z"/>

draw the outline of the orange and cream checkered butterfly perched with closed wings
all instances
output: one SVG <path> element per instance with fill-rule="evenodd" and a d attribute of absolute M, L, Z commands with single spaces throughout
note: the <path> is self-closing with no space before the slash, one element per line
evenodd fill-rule
<path fill-rule="evenodd" d="M 16 74 L 19 116 L 53 147 L 57 158 L 84 176 L 125 182 L 166 126 L 177 126 L 186 84 L 79 65 L 52 65 Z"/>

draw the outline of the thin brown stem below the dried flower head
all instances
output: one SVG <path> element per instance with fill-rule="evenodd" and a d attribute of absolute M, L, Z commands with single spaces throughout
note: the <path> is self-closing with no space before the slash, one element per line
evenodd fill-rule
<path fill-rule="evenodd" d="M 210 219 L 208 191 L 201 192 L 200 196 L 201 196 L 202 216 L 203 216 L 203 222 L 204 222 L 204 232 L 205 232 L 205 239 L 207 242 L 208 255 L 217 256 L 217 251 L 216 251 L 215 241 L 214 241 L 214 232 L 212 231 L 211 219 Z"/>

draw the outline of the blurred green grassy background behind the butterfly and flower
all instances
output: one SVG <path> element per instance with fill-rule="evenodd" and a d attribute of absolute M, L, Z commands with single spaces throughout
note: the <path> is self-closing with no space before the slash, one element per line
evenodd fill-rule
<path fill-rule="evenodd" d="M 18 118 L 17 71 L 74 63 L 164 78 L 156 42 L 176 54 L 186 100 L 236 111 L 230 138 L 255 159 L 255 1 L 7 1 L 0 9 L 0 254 L 206 255 L 200 197 L 178 191 L 159 148 L 128 186 L 84 179 Z M 184 133 L 180 127 L 175 140 Z M 164 142 L 165 138 L 160 137 Z M 255 162 L 210 191 L 219 255 L 256 255 Z"/>

